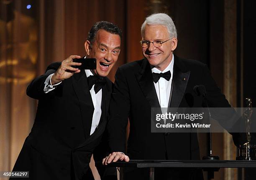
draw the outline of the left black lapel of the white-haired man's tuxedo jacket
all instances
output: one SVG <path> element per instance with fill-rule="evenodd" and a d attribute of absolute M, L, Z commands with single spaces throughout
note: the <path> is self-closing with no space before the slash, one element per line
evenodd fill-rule
<path fill-rule="evenodd" d="M 153 82 L 152 72 L 150 65 L 146 59 L 143 60 L 141 64 L 141 69 L 136 74 L 138 84 L 143 91 L 146 99 L 148 100 L 151 107 L 159 107 L 160 104 L 156 95 L 156 89 Z"/>

